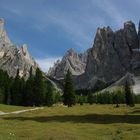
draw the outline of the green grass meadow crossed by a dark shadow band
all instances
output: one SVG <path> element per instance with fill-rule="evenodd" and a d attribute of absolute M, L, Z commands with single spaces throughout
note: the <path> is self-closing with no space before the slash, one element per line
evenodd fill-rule
<path fill-rule="evenodd" d="M 8 108 L 26 109 L 0 105 Z M 55 106 L 0 116 L 0 140 L 140 140 L 140 105 Z"/>

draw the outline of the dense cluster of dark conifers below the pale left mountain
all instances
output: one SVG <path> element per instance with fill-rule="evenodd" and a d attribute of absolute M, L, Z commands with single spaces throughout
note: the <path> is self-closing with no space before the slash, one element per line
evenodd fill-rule
<path fill-rule="evenodd" d="M 30 69 L 27 81 L 20 78 L 19 71 L 15 78 L 0 70 L 0 103 L 23 106 L 52 106 L 60 101 L 60 93 L 44 78 L 39 68 L 35 75 Z"/>

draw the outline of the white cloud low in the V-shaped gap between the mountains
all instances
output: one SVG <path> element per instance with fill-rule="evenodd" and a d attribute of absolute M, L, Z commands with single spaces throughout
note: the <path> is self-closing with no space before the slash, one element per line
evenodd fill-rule
<path fill-rule="evenodd" d="M 49 68 L 52 67 L 58 59 L 60 60 L 61 57 L 36 58 L 36 62 L 39 64 L 39 67 L 44 72 L 47 72 Z"/>

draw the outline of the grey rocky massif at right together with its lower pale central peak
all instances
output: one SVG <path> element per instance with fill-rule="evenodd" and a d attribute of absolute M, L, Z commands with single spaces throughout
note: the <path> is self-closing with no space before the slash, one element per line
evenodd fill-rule
<path fill-rule="evenodd" d="M 102 90 L 122 86 L 128 80 L 138 92 L 140 86 L 140 25 L 138 33 L 132 21 L 124 23 L 120 30 L 109 26 L 98 28 L 93 47 L 82 54 L 84 61 L 69 50 L 49 74 L 64 77 L 67 69 L 72 71 L 74 85 L 79 89 Z M 131 77 L 131 78 L 130 78 Z M 133 82 L 132 82 L 133 81 Z"/>

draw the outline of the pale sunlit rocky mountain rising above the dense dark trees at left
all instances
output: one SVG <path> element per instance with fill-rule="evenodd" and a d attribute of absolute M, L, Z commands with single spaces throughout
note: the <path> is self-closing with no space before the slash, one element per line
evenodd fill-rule
<path fill-rule="evenodd" d="M 4 20 L 0 19 L 0 69 L 7 71 L 12 77 L 19 70 L 19 75 L 27 78 L 31 67 L 35 72 L 38 64 L 29 54 L 27 45 L 19 48 L 13 44 L 4 29 Z"/>

